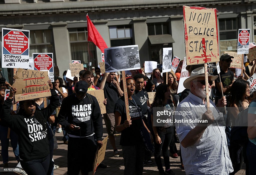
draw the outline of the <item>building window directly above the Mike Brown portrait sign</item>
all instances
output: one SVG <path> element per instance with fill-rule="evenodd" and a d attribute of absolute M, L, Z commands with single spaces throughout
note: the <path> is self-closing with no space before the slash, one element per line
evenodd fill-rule
<path fill-rule="evenodd" d="M 111 47 L 133 45 L 133 32 L 131 25 L 109 26 Z"/>

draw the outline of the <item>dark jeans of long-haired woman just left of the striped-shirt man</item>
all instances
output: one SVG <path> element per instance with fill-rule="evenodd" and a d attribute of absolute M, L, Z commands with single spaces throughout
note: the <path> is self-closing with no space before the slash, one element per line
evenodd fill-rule
<path fill-rule="evenodd" d="M 164 168 L 161 161 L 161 149 L 163 152 L 165 169 L 170 169 L 170 157 L 169 157 L 170 154 L 169 154 L 168 148 L 173 137 L 173 127 L 167 128 L 164 131 L 157 131 L 157 133 L 161 138 L 162 143 L 157 144 L 156 141 L 154 141 L 155 142 L 154 156 L 155 156 L 155 161 L 156 161 L 158 171 L 164 172 Z"/>

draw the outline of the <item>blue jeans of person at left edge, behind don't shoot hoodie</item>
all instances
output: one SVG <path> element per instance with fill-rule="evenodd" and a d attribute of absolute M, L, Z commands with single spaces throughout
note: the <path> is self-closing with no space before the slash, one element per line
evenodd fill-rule
<path fill-rule="evenodd" d="M 8 147 L 9 147 L 9 139 L 7 139 L 8 127 L 0 126 L 0 140 L 2 145 L 2 157 L 3 163 L 8 162 Z M 10 139 L 11 145 L 13 147 L 13 153 L 15 155 L 16 160 L 19 160 L 19 145 L 18 145 L 18 135 L 10 130 Z"/>

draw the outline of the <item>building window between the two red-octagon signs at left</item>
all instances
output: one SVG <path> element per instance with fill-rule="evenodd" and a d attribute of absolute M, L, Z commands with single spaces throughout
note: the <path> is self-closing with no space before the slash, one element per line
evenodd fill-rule
<path fill-rule="evenodd" d="M 54 53 L 54 43 L 51 30 L 30 30 L 29 56 L 33 53 Z"/>

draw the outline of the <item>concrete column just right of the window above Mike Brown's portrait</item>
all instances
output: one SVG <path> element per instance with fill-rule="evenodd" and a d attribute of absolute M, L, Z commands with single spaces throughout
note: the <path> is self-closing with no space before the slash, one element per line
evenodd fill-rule
<path fill-rule="evenodd" d="M 133 37 L 135 44 L 138 45 L 141 66 L 145 61 L 150 61 L 148 48 L 148 31 L 146 19 L 133 19 Z"/>

